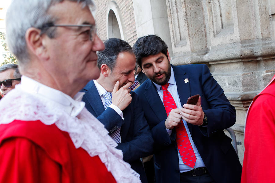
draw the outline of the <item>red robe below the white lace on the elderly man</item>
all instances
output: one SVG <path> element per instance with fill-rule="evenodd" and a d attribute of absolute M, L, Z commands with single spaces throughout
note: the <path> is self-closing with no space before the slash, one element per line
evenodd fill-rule
<path fill-rule="evenodd" d="M 98 156 L 76 149 L 55 124 L 14 120 L 0 125 L 0 182 L 116 182 Z"/>

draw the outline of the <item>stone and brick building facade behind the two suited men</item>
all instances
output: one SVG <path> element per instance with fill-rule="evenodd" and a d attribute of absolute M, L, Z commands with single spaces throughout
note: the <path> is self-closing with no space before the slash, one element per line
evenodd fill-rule
<path fill-rule="evenodd" d="M 120 36 L 133 45 L 138 37 L 157 34 L 169 46 L 172 64 L 207 64 L 236 108 L 237 121 L 232 128 L 237 141 L 244 142 L 247 109 L 275 74 L 273 0 L 95 0 L 95 3 L 100 38 Z M 116 19 L 108 14 L 110 9 Z M 242 163 L 244 145 L 238 145 L 238 152 Z"/>

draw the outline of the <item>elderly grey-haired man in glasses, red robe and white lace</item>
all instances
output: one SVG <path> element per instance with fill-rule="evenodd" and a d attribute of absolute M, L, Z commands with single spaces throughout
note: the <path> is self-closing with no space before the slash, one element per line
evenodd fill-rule
<path fill-rule="evenodd" d="M 92 0 L 13 0 L 9 49 L 21 84 L 0 101 L 0 182 L 140 182 L 81 102 L 99 77 Z"/>

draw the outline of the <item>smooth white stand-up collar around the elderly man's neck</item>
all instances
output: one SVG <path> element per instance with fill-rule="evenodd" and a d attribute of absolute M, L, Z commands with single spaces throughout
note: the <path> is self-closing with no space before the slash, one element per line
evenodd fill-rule
<path fill-rule="evenodd" d="M 21 77 L 20 85 L 22 90 L 27 93 L 39 95 L 44 99 L 57 103 L 72 117 L 77 116 L 85 107 L 85 102 L 81 101 L 85 94 L 84 92 L 78 92 L 72 99 L 62 91 L 50 88 L 24 75 Z"/>

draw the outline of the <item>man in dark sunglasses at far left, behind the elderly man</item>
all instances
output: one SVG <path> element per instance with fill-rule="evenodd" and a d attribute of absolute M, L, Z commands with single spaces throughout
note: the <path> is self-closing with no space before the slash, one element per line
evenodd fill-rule
<path fill-rule="evenodd" d="M 21 74 L 16 64 L 5 64 L 0 67 L 0 89 L 3 95 L 11 91 L 16 84 L 20 83 Z"/>

